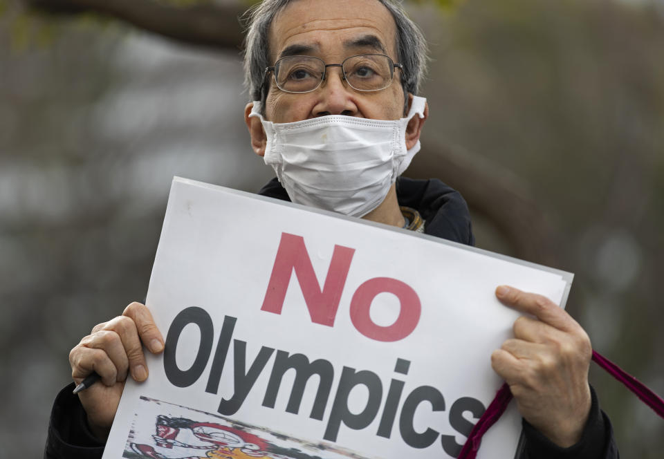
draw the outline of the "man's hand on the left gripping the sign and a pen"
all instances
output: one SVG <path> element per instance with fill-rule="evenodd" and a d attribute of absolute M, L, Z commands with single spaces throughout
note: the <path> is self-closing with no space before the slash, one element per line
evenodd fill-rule
<path fill-rule="evenodd" d="M 137 382 L 147 378 L 142 344 L 151 353 L 164 349 L 164 339 L 147 307 L 131 303 L 121 316 L 96 325 L 69 353 L 76 384 L 96 371 L 100 381 L 78 393 L 92 433 L 106 440 L 116 417 L 127 375 Z"/>

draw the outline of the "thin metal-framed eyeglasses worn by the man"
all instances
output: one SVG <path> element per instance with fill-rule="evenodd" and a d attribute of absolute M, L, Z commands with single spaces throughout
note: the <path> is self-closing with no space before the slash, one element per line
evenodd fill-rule
<path fill-rule="evenodd" d="M 323 82 L 328 67 L 341 67 L 344 79 L 356 91 L 385 89 L 392 82 L 395 68 L 403 72 L 403 66 L 386 55 L 360 54 L 347 57 L 341 64 L 325 64 L 313 56 L 286 56 L 266 68 L 265 75 L 272 71 L 277 88 L 286 93 L 310 93 Z"/>

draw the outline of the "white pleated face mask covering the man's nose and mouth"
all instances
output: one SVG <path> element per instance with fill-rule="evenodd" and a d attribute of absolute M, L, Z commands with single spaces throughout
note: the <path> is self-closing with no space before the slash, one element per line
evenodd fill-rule
<path fill-rule="evenodd" d="M 329 115 L 273 123 L 254 102 L 250 117 L 267 135 L 265 163 L 277 173 L 293 203 L 361 217 L 376 209 L 397 176 L 406 170 L 420 142 L 406 149 L 406 126 L 424 118 L 426 99 L 413 97 L 400 120 L 367 120 Z"/>

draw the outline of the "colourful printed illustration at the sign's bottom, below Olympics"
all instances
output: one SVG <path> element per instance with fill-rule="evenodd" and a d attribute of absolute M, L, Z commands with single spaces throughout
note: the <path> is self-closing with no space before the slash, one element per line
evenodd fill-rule
<path fill-rule="evenodd" d="M 140 400 L 122 455 L 126 459 L 364 459 L 212 413 Z"/>

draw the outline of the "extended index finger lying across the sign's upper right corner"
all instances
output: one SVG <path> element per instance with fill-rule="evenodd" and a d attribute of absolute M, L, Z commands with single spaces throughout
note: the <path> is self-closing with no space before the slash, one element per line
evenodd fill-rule
<path fill-rule="evenodd" d="M 580 327 L 564 309 L 540 294 L 501 285 L 496 289 L 496 297 L 507 306 L 533 315 L 558 330 L 570 332 Z"/>

